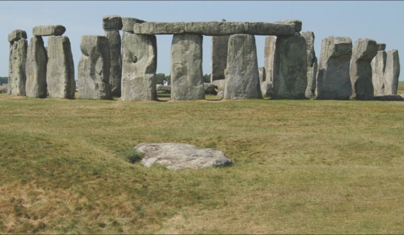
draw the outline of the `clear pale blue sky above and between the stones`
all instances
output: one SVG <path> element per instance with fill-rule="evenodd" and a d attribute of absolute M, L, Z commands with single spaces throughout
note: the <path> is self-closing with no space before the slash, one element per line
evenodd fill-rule
<path fill-rule="evenodd" d="M 320 55 L 326 36 L 372 38 L 386 43 L 386 51 L 401 55 L 400 80 L 404 80 L 404 2 L 401 1 L 1 1 L 0 76 L 8 75 L 9 43 L 14 29 L 32 36 L 35 25 L 62 24 L 69 36 L 77 79 L 80 38 L 84 34 L 104 35 L 105 15 L 135 17 L 145 21 L 263 21 L 299 19 L 302 31 L 315 33 L 315 51 Z M 170 73 L 171 35 L 158 35 L 157 72 Z M 264 66 L 265 36 L 256 36 L 258 64 Z M 46 39 L 45 39 L 46 43 Z M 204 74 L 210 72 L 211 37 L 204 37 Z"/>

